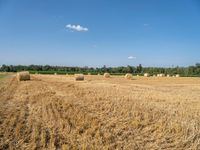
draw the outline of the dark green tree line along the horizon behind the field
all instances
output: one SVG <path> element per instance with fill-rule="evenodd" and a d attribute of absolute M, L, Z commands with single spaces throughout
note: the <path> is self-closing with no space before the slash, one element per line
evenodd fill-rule
<path fill-rule="evenodd" d="M 111 74 L 123 75 L 125 73 L 139 74 L 149 73 L 150 75 L 156 75 L 159 73 L 175 75 L 180 74 L 181 76 L 200 76 L 200 63 L 196 63 L 193 66 L 188 67 L 143 67 L 141 64 L 138 66 L 126 66 L 126 67 L 67 67 L 67 66 L 50 66 L 50 65 L 2 65 L 0 67 L 1 72 L 18 72 L 18 71 L 30 71 L 31 73 L 41 74 L 103 74 L 109 72 Z"/>

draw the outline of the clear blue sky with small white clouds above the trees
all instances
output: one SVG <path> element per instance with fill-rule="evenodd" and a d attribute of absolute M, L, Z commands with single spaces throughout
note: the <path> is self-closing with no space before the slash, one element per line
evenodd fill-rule
<path fill-rule="evenodd" d="M 196 62 L 199 0 L 0 0 L 0 65 Z"/>

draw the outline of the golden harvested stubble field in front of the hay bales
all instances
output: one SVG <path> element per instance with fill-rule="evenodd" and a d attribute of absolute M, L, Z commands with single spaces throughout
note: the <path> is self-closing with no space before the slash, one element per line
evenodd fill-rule
<path fill-rule="evenodd" d="M 200 78 L 1 79 L 0 149 L 200 149 Z"/>

